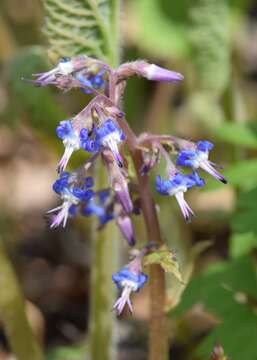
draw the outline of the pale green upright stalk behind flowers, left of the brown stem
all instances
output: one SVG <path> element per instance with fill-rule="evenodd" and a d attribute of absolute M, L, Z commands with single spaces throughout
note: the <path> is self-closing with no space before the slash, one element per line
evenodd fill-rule
<path fill-rule="evenodd" d="M 119 64 L 119 0 L 110 2 L 110 38 L 112 44 L 107 54 L 108 64 Z M 96 188 L 106 187 L 106 174 L 102 164 L 95 170 Z M 119 267 L 119 231 L 115 224 L 109 223 L 97 231 L 92 226 L 92 262 L 90 289 L 89 346 L 90 359 L 115 360 L 118 340 L 115 338 L 117 323 L 111 311 L 116 298 L 116 289 L 112 283 L 112 273 Z"/>

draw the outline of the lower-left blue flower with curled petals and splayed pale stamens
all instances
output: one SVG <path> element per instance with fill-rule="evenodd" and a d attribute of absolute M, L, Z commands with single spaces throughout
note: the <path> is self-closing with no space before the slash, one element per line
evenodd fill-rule
<path fill-rule="evenodd" d="M 58 227 L 61 224 L 63 227 L 66 226 L 69 215 L 76 215 L 78 205 L 89 201 L 94 196 L 91 189 L 93 184 L 91 177 L 77 181 L 76 175 L 74 176 L 72 173 L 63 172 L 60 174 L 60 178 L 53 184 L 53 190 L 61 197 L 63 203 L 47 212 L 48 214 L 57 212 L 53 217 L 51 228 Z"/>

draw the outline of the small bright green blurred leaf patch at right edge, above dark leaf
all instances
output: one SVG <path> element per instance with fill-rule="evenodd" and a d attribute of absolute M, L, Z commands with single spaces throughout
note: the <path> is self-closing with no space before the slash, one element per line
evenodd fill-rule
<path fill-rule="evenodd" d="M 257 210 L 257 209 L 256 209 Z M 238 220 L 237 220 L 238 221 Z M 229 240 L 229 253 L 233 258 L 249 254 L 257 248 L 257 234 L 246 232 L 232 234 Z"/>

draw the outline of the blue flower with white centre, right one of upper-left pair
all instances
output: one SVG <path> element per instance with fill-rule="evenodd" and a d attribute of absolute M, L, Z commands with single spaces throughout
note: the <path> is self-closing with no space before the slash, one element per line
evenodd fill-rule
<path fill-rule="evenodd" d="M 95 141 L 99 146 L 110 149 L 114 159 L 120 167 L 123 166 L 118 144 L 125 140 L 123 131 L 112 119 L 107 119 L 99 128 L 95 129 Z"/>

